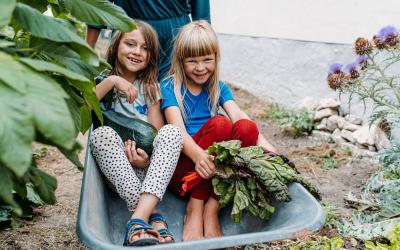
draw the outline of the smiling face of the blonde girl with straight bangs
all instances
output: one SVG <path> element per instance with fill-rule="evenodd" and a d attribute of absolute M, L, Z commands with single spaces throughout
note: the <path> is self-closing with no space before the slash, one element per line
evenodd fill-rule
<path fill-rule="evenodd" d="M 203 85 L 214 74 L 215 54 L 187 57 L 183 60 L 183 69 L 188 84 Z"/>

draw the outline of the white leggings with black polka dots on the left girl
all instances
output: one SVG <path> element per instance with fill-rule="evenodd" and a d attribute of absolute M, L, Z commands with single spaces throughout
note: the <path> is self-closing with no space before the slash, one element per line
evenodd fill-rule
<path fill-rule="evenodd" d="M 162 200 L 178 163 L 183 136 L 178 127 L 162 127 L 154 139 L 147 168 L 131 165 L 121 137 L 110 127 L 95 129 L 90 137 L 90 146 L 100 170 L 127 203 L 128 209 L 134 211 L 142 193 L 153 194 Z"/>

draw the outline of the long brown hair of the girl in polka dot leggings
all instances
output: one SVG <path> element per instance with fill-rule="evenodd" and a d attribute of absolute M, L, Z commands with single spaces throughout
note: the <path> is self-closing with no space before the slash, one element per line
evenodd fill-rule
<path fill-rule="evenodd" d="M 144 37 L 147 46 L 148 58 L 147 66 L 138 72 L 138 80 L 143 84 L 144 98 L 155 103 L 160 96 L 160 86 L 158 85 L 158 56 L 160 45 L 158 42 L 157 32 L 151 27 L 150 24 L 135 20 L 136 26 Z M 118 47 L 121 43 L 124 32 L 117 31 L 111 41 L 107 50 L 107 62 L 111 65 L 112 69 L 110 75 L 121 76 L 121 65 L 118 61 Z"/>

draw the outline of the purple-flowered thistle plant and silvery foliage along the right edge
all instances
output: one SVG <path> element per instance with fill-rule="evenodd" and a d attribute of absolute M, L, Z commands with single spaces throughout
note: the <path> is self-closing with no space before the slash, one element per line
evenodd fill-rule
<path fill-rule="evenodd" d="M 359 56 L 343 68 L 333 64 L 328 84 L 339 94 L 349 94 L 373 105 L 370 124 L 380 123 L 386 131 L 400 128 L 400 36 L 387 26 L 371 40 L 358 38 L 354 46 Z M 352 199 L 357 208 L 339 231 L 361 240 L 385 237 L 400 224 L 400 145 L 380 151 L 378 171 L 364 187 L 361 199 Z M 375 249 L 381 249 L 375 246 Z M 385 249 L 385 248 L 382 248 Z"/>

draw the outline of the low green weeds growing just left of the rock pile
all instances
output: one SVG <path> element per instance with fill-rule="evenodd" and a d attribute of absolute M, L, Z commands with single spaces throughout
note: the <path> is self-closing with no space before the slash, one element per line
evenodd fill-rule
<path fill-rule="evenodd" d="M 266 116 L 279 122 L 281 128 L 293 137 L 311 134 L 315 128 L 314 114 L 309 111 L 285 109 L 273 104 L 267 109 Z"/>

